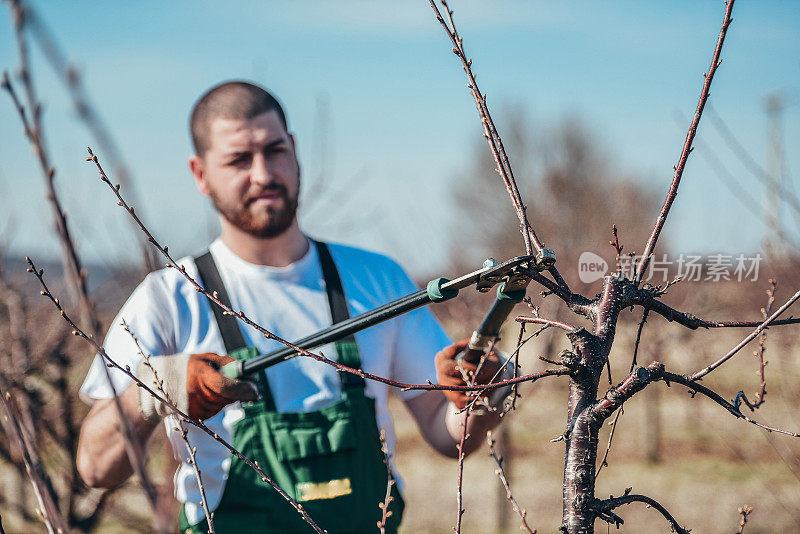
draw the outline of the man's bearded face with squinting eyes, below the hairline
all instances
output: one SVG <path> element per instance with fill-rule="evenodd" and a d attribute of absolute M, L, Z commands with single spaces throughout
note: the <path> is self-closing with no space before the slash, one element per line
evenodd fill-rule
<path fill-rule="evenodd" d="M 281 235 L 294 222 L 300 168 L 294 138 L 275 111 L 252 119 L 216 118 L 202 158 L 190 160 L 200 192 L 236 228 Z"/>

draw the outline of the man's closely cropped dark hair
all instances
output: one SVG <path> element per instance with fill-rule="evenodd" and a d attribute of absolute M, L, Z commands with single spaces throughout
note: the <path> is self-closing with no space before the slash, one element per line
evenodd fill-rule
<path fill-rule="evenodd" d="M 275 111 L 288 131 L 280 102 L 264 88 L 245 81 L 229 81 L 205 92 L 192 108 L 189 129 L 195 154 L 203 156 L 209 147 L 211 123 L 216 118 L 248 120 Z"/>

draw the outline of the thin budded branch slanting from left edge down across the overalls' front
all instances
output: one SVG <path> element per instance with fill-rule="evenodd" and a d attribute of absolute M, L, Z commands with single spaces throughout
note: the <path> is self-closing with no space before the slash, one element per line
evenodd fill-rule
<path fill-rule="evenodd" d="M 311 519 L 311 517 L 308 515 L 308 513 L 305 511 L 305 509 L 297 501 L 292 499 L 289 496 L 289 494 L 287 494 L 278 484 L 276 484 L 275 481 L 273 481 L 258 466 L 258 464 L 256 462 L 254 462 L 254 461 L 250 460 L 249 458 L 247 458 L 246 456 L 244 456 L 236 448 L 234 448 L 227 441 L 222 439 L 214 431 L 212 431 L 210 428 L 208 428 L 202 421 L 198 421 L 197 419 L 193 419 L 188 414 L 186 414 L 186 413 L 182 412 L 180 409 L 178 409 L 178 407 L 175 406 L 175 404 L 173 404 L 169 400 L 161 397 L 150 386 L 148 386 L 147 384 L 142 382 L 136 375 L 134 375 L 133 372 L 130 369 L 130 366 L 126 365 L 125 367 L 123 367 L 123 366 L 119 365 L 116 361 L 112 360 L 111 357 L 106 352 L 106 350 L 103 348 L 103 346 L 100 345 L 99 343 L 97 343 L 97 341 L 95 341 L 94 337 L 87 335 L 86 332 L 81 330 L 81 328 L 66 313 L 64 308 L 61 306 L 60 301 L 55 296 L 53 296 L 53 294 L 50 292 L 49 288 L 47 287 L 47 284 L 44 281 L 44 271 L 43 270 L 37 270 L 36 266 L 33 263 L 33 261 L 31 261 L 30 258 L 26 258 L 26 259 L 28 261 L 28 265 L 30 266 L 28 271 L 33 273 L 36 276 L 37 280 L 39 280 L 39 284 L 42 286 L 41 294 L 44 297 L 46 297 L 47 299 L 49 299 L 50 302 L 53 303 L 53 305 L 56 307 L 58 312 L 61 314 L 61 317 L 64 319 L 64 321 L 66 321 L 66 323 L 71 328 L 73 328 L 73 331 L 72 331 L 73 335 L 75 335 L 77 337 L 80 337 L 81 339 L 83 339 L 84 341 L 86 341 L 87 343 L 92 345 L 92 347 L 94 347 L 94 349 L 97 351 L 97 353 L 100 354 L 100 356 L 107 362 L 104 367 L 106 367 L 106 368 L 113 367 L 115 369 L 118 369 L 119 371 L 124 373 L 128 378 L 130 378 L 134 383 L 136 383 L 136 385 L 138 387 L 144 389 L 147 393 L 152 395 L 155 399 L 163 402 L 166 406 L 168 406 L 175 413 L 175 415 L 178 416 L 180 419 L 182 419 L 183 421 L 186 421 L 187 423 L 189 423 L 191 425 L 194 425 L 195 427 L 199 428 L 200 430 L 202 430 L 203 432 L 205 432 L 206 434 L 211 436 L 215 441 L 217 441 L 222 446 L 224 446 L 226 449 L 228 449 L 228 451 L 230 451 L 233 455 L 235 455 L 237 458 L 239 458 L 244 463 L 246 463 L 251 469 L 255 470 L 256 473 L 258 473 L 259 476 L 261 476 L 261 480 L 266 482 L 270 486 L 272 486 L 272 488 L 275 489 L 275 491 L 277 491 L 281 495 L 281 497 L 283 497 L 302 516 L 302 518 L 306 521 L 306 523 L 308 523 L 318 534 L 324 534 L 322 529 L 320 529 L 319 526 Z"/>

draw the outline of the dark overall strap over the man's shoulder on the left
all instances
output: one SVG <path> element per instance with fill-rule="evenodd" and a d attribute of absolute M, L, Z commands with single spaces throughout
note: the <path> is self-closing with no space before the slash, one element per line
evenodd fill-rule
<path fill-rule="evenodd" d="M 194 259 L 194 263 L 197 266 L 197 274 L 200 275 L 200 283 L 203 288 L 212 295 L 216 293 L 219 301 L 231 308 L 231 299 L 225 290 L 225 284 L 222 283 L 222 277 L 219 275 L 219 269 L 217 269 L 217 264 L 214 261 L 214 257 L 211 256 L 211 252 L 206 251 L 205 254 L 197 256 Z M 214 312 L 214 318 L 217 320 L 219 333 L 222 336 L 222 342 L 225 344 L 225 350 L 228 354 L 243 349 L 246 345 L 242 331 L 239 330 L 239 321 L 233 315 L 227 315 L 216 303 L 210 302 L 209 304 Z M 266 374 L 259 373 L 256 381 L 264 399 L 264 404 L 268 410 L 274 411 L 275 399 L 272 398 Z"/>

